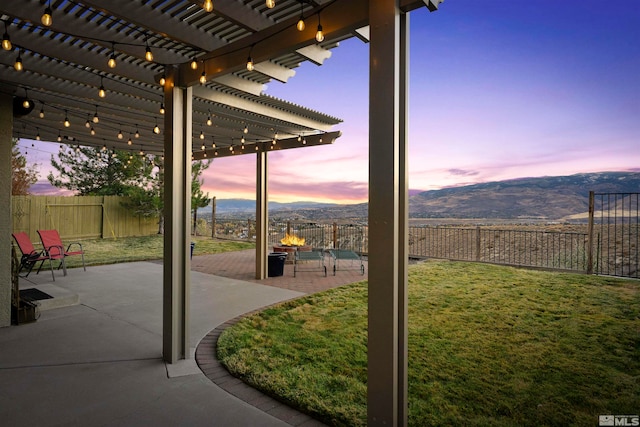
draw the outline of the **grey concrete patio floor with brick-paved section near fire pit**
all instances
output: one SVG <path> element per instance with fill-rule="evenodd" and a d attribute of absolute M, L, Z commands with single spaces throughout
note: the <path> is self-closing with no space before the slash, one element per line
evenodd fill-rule
<path fill-rule="evenodd" d="M 211 359 L 215 331 L 244 313 L 366 278 L 359 271 L 293 278 L 287 265 L 284 276 L 257 281 L 253 254 L 194 257 L 191 347 L 199 357 Z M 227 383 L 236 390 L 230 394 L 195 358 L 166 365 L 157 262 L 70 269 L 67 276 L 56 271 L 55 282 L 46 271 L 28 279 L 21 279 L 21 289 L 36 287 L 54 298 L 42 300 L 36 322 L 0 328 L 3 425 L 321 425 L 235 378 Z"/>

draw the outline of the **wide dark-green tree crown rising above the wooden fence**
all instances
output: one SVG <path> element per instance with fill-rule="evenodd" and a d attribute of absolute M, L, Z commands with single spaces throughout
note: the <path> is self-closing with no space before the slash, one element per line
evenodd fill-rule
<path fill-rule="evenodd" d="M 51 156 L 51 166 L 58 176 L 49 173 L 49 182 L 80 196 L 123 196 L 152 179 L 147 157 L 124 150 L 61 146 L 57 159 Z"/>

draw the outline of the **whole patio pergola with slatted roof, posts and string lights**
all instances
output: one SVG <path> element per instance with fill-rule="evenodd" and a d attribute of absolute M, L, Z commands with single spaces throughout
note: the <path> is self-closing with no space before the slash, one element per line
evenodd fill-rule
<path fill-rule="evenodd" d="M 346 38 L 370 42 L 368 422 L 404 425 L 408 12 L 441 2 L 3 0 L 0 203 L 11 206 L 12 137 L 164 155 L 163 355 L 188 358 L 192 159 L 256 156 L 256 278 L 266 277 L 268 153 L 330 144 L 340 120 L 264 85 L 322 65 Z M 10 324 L 8 213 L 0 326 Z"/>

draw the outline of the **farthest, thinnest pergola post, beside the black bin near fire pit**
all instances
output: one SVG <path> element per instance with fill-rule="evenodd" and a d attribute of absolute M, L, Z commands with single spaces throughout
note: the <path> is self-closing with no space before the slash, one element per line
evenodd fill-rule
<path fill-rule="evenodd" d="M 258 151 L 256 157 L 256 279 L 267 278 L 269 243 L 269 195 L 267 191 L 267 152 Z"/>

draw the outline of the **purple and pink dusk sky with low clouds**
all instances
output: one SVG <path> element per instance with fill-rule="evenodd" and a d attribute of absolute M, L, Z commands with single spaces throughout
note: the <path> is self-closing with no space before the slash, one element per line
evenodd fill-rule
<path fill-rule="evenodd" d="M 268 85 L 344 121 L 333 145 L 269 153 L 270 200 L 367 200 L 368 54 L 350 39 L 323 66 Z M 409 128 L 412 191 L 640 171 L 640 1 L 446 0 L 412 12 Z M 42 144 L 28 159 L 44 171 L 56 151 Z M 255 160 L 216 159 L 204 191 L 254 199 Z"/>

